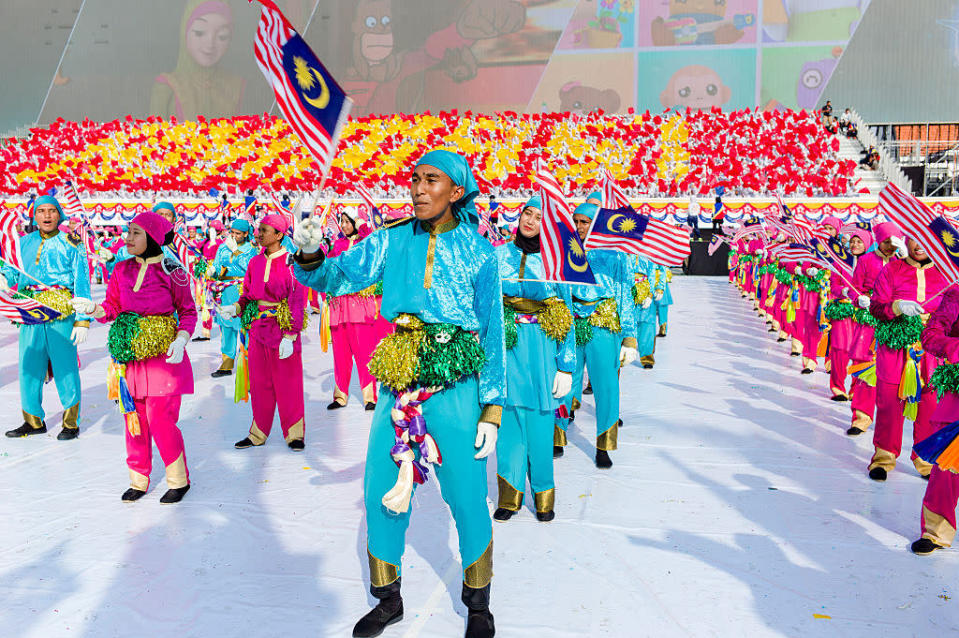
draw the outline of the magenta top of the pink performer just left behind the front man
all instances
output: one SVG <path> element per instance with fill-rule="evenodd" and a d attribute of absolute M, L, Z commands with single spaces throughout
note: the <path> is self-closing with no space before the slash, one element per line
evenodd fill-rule
<path fill-rule="evenodd" d="M 296 336 L 303 330 L 306 288 L 293 276 L 288 257 L 289 253 L 280 249 L 269 257 L 266 253 L 260 253 L 251 259 L 243 277 L 243 294 L 238 303 L 241 309 L 248 303 L 256 303 L 260 310 L 268 310 L 285 299 L 290 307 L 292 326 L 292 330 L 286 334 Z M 256 319 L 250 325 L 250 337 L 265 346 L 279 346 L 283 336 L 275 317 Z M 295 339 L 293 342 L 295 352 L 301 348 L 300 341 Z"/>

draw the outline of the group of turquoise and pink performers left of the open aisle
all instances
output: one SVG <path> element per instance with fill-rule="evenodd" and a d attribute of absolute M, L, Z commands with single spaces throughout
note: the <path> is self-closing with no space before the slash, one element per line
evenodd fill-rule
<path fill-rule="evenodd" d="M 302 333 L 311 308 L 325 304 L 335 379 L 328 409 L 347 404 L 355 364 L 373 412 L 363 491 L 378 604 L 353 635 L 379 635 L 403 617 L 410 501 L 432 468 L 459 539 L 466 636 L 493 636 L 486 459 L 496 452 L 492 519 L 507 521 L 522 508 L 528 481 L 536 518 L 553 520 L 554 459 L 563 456 L 585 392 L 596 404 L 595 464 L 611 468 L 623 425 L 620 370 L 654 365 L 671 274 L 642 257 L 593 250 L 587 257 L 597 285 L 546 281 L 539 198 L 527 202 L 515 237 L 505 241 L 478 232 L 479 189 L 462 156 L 427 153 L 411 179 L 414 216 L 372 230 L 343 214 L 332 242 L 318 219 L 294 229 L 280 214 L 257 224 L 235 219 L 215 229 L 217 240 L 193 231 L 178 237 L 175 208 L 158 203 L 131 221 L 122 246 L 100 251 L 101 301 L 91 295 L 83 242 L 60 230 L 60 203 L 39 198 L 37 230 L 20 238 L 23 270 L 5 266 L 0 287 L 60 314 L 19 327 L 24 422 L 7 436 L 46 432 L 41 396 L 52 377 L 67 406 L 57 438 L 77 439 L 77 346 L 91 321 L 109 324 L 108 392 L 124 415 L 130 475 L 121 498 L 136 501 L 149 490 L 155 443 L 166 468 L 161 502 L 176 503 L 191 486 L 178 422 L 183 395 L 194 391 L 186 350 L 198 324 L 194 341 L 211 337 L 214 319 L 220 327 L 222 362 L 212 376 L 232 381 L 235 399 L 249 398 L 250 427 L 235 447 L 264 445 L 278 412 L 285 443 L 300 451 L 307 431 Z M 575 209 L 584 240 L 600 200 L 594 193 Z M 178 242 L 203 256 L 200 266 L 184 267 Z"/>

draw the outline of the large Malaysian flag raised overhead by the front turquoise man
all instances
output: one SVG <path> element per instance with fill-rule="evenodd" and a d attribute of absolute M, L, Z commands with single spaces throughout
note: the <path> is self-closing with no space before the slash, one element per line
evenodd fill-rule
<path fill-rule="evenodd" d="M 263 5 L 253 40 L 256 62 L 283 117 L 326 176 L 352 102 L 272 0 Z"/>

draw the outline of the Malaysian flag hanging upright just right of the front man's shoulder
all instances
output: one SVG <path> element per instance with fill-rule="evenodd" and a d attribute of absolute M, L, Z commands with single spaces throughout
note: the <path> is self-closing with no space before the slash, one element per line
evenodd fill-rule
<path fill-rule="evenodd" d="M 543 200 L 541 238 L 546 280 L 595 284 L 569 204 L 559 182 L 542 160 L 536 166 L 536 181 Z"/>

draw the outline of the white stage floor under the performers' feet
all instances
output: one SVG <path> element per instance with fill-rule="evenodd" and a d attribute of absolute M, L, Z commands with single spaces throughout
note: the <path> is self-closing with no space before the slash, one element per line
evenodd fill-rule
<path fill-rule="evenodd" d="M 866 477 L 870 435 L 822 372 L 725 278 L 677 277 L 652 371 L 623 372 L 615 466 L 592 463 L 593 407 L 556 463 L 556 520 L 494 524 L 498 636 L 945 636 L 959 631 L 959 553 L 920 558 L 925 483 L 908 461 Z M 102 296 L 102 291 L 99 291 Z M 191 343 L 184 402 L 193 489 L 161 506 L 162 463 L 136 504 L 122 420 L 105 398 L 106 328 L 81 348 L 80 438 L 0 438 L 0 635 L 348 636 L 365 613 L 361 503 L 370 413 L 327 412 L 331 355 L 307 345 L 307 447 L 234 450 L 249 406 L 213 380 L 217 342 Z M 20 424 L 16 331 L 0 328 L 0 423 Z M 908 450 L 908 444 L 906 446 Z M 495 499 L 495 463 L 489 463 Z M 528 499 L 530 500 L 530 499 Z M 406 619 L 384 636 L 461 636 L 455 530 L 431 476 L 407 537 Z M 493 508 L 493 501 L 490 503 Z"/>

